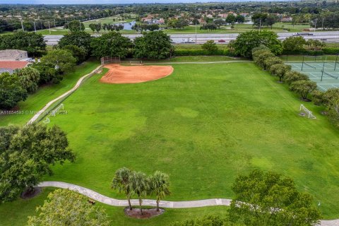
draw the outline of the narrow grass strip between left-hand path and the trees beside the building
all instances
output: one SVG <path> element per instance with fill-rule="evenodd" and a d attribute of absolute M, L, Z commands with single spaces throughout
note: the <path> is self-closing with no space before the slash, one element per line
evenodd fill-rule
<path fill-rule="evenodd" d="M 18 107 L 21 111 L 24 111 L 24 114 L 0 115 L 0 126 L 27 123 L 28 120 L 33 117 L 31 111 L 39 111 L 47 102 L 73 88 L 81 76 L 90 73 L 90 71 L 93 71 L 99 64 L 99 61 L 86 61 L 82 65 L 77 66 L 75 71 L 66 73 L 61 83 L 39 88 L 36 93 L 29 95 L 25 102 L 19 103 Z"/>

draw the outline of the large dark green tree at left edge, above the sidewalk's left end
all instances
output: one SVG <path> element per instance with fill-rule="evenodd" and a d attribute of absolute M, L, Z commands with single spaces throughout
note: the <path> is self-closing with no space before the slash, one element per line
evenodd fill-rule
<path fill-rule="evenodd" d="M 0 127 L 0 134 L 8 130 L 13 128 Z M 0 149 L 1 202 L 12 201 L 24 189 L 32 191 L 43 175 L 52 174 L 51 165 L 75 160 L 66 133 L 57 126 L 31 124 L 16 131 Z"/>

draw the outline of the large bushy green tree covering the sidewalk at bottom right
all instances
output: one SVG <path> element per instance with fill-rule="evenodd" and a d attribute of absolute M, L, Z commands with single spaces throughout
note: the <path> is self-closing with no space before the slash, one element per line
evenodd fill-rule
<path fill-rule="evenodd" d="M 321 215 L 309 194 L 275 172 L 254 170 L 240 175 L 232 185 L 230 220 L 245 225 L 304 225 L 319 223 Z"/>

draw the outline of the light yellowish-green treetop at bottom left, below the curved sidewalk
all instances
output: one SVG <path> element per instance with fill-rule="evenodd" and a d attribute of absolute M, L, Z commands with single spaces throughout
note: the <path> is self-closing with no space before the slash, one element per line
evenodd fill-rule
<path fill-rule="evenodd" d="M 48 195 L 37 215 L 28 217 L 28 226 L 83 225 L 109 226 L 103 208 L 95 208 L 88 198 L 67 189 L 57 189 Z"/>

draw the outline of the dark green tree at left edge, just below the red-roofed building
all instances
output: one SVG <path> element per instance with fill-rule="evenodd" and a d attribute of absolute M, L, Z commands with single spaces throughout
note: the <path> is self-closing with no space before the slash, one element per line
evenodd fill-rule
<path fill-rule="evenodd" d="M 21 86 L 18 75 L 0 73 L 0 109 L 11 109 L 27 97 L 27 90 Z"/>

